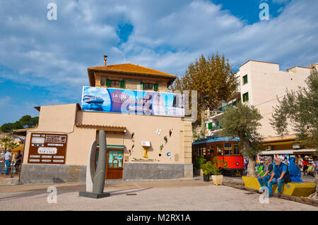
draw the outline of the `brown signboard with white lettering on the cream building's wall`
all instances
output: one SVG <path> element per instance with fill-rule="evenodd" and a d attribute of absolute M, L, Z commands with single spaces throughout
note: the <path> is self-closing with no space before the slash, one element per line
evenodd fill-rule
<path fill-rule="evenodd" d="M 67 135 L 31 133 L 28 164 L 65 164 Z"/>

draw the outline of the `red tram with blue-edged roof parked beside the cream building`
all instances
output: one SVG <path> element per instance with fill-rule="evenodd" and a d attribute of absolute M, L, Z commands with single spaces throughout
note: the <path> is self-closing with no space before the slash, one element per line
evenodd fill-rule
<path fill-rule="evenodd" d="M 197 156 L 203 155 L 213 163 L 213 158 L 227 162 L 228 166 L 221 169 L 222 174 L 243 174 L 244 157 L 241 154 L 239 138 L 201 138 L 192 143 L 192 163 Z"/>

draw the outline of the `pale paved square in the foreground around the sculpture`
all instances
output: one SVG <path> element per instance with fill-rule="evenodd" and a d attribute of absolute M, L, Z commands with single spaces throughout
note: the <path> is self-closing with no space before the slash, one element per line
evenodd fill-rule
<path fill-rule="evenodd" d="M 47 203 L 47 187 L 57 188 L 57 203 Z M 308 210 L 318 207 L 269 198 L 261 204 L 259 194 L 210 182 L 184 181 L 111 181 L 105 192 L 110 197 L 79 197 L 83 183 L 59 185 L 22 185 L 0 187 L 0 210 Z M 127 195 L 129 194 L 129 195 Z"/>

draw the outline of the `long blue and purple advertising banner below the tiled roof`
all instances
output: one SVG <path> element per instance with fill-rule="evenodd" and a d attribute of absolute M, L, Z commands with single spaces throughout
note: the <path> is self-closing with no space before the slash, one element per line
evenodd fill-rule
<path fill-rule="evenodd" d="M 184 116 L 184 95 L 105 87 L 83 87 L 83 111 Z"/>

